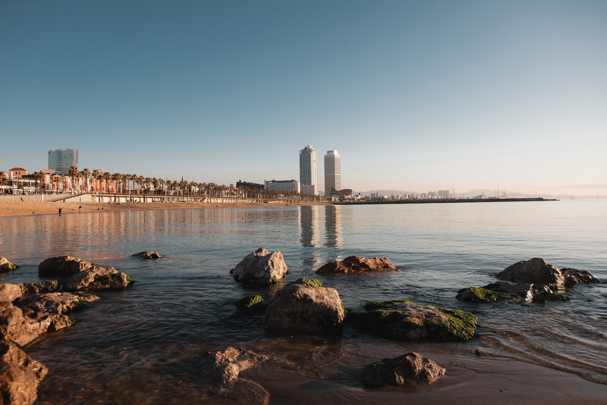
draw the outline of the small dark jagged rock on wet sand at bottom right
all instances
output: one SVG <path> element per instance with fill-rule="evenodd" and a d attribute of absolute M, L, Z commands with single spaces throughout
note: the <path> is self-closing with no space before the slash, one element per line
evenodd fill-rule
<path fill-rule="evenodd" d="M 407 353 L 394 359 L 383 359 L 365 365 L 362 381 L 367 386 L 382 387 L 385 384 L 431 384 L 445 374 L 445 369 L 419 353 Z"/>

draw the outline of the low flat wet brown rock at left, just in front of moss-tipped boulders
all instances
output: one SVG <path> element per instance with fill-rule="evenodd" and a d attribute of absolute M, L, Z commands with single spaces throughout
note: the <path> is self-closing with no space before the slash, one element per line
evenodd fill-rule
<path fill-rule="evenodd" d="M 64 314 L 68 311 L 80 310 L 89 302 L 99 297 L 82 292 L 49 292 L 47 294 L 32 294 L 19 299 L 19 308 L 29 308 L 35 312 Z"/>

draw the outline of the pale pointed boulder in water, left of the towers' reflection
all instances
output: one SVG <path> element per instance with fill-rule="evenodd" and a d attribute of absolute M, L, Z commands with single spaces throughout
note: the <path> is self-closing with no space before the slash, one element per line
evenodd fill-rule
<path fill-rule="evenodd" d="M 237 282 L 276 283 L 287 274 L 287 263 L 282 253 L 260 247 L 246 255 L 230 274 Z"/>

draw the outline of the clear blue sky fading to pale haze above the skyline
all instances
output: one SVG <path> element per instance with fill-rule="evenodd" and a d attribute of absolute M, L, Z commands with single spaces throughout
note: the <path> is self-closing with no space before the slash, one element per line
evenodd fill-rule
<path fill-rule="evenodd" d="M 607 190 L 605 1 L 1 1 L 0 170 Z M 565 191 L 565 193 L 568 193 Z M 607 191 L 604 192 L 607 194 Z"/>

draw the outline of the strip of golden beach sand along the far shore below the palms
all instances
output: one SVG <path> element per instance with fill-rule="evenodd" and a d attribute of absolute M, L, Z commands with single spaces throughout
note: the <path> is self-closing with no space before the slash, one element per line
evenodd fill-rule
<path fill-rule="evenodd" d="M 330 202 L 293 202 L 290 206 L 327 206 Z M 0 216 L 43 215 L 86 211 L 128 211 L 128 210 L 182 210 L 198 208 L 232 208 L 232 207 L 274 207 L 285 206 L 283 202 L 23 202 L 0 201 Z M 82 209 L 78 207 L 82 206 Z"/>

